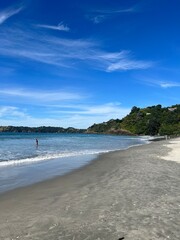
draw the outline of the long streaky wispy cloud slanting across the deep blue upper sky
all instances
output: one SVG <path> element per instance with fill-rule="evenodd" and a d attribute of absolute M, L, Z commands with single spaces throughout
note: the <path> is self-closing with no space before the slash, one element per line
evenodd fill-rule
<path fill-rule="evenodd" d="M 77 69 L 83 63 L 106 72 L 152 66 L 151 62 L 132 59 L 130 51 L 104 51 L 93 40 L 51 37 L 33 29 L 6 29 L 0 30 L 0 34 L 1 55 L 16 60 L 26 58 L 56 67 Z"/>

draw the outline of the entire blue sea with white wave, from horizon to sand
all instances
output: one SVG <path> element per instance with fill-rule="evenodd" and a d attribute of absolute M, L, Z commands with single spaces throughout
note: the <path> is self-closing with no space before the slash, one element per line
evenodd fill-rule
<path fill-rule="evenodd" d="M 146 143 L 145 137 L 0 133 L 0 192 L 64 175 L 100 153 Z"/>

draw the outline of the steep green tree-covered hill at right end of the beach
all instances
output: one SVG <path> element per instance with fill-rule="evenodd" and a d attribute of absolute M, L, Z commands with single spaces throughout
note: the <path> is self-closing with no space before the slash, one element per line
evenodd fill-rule
<path fill-rule="evenodd" d="M 123 119 L 94 124 L 87 130 L 96 133 L 134 135 L 180 135 L 180 105 L 162 108 L 161 105 L 133 107 Z"/>

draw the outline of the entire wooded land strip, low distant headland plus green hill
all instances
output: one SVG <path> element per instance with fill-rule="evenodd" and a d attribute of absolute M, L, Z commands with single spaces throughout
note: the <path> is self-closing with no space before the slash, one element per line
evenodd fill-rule
<path fill-rule="evenodd" d="M 173 135 L 180 136 L 180 104 L 163 108 L 161 105 L 147 108 L 133 107 L 123 119 L 94 124 L 88 129 L 72 127 L 0 127 L 0 132 L 35 133 L 106 133 L 121 135 Z"/>

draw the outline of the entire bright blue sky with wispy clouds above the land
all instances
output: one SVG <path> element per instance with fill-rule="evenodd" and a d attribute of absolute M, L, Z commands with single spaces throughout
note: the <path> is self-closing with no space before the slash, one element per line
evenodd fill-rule
<path fill-rule="evenodd" d="M 0 1 L 0 125 L 86 128 L 180 103 L 179 0 Z"/>

